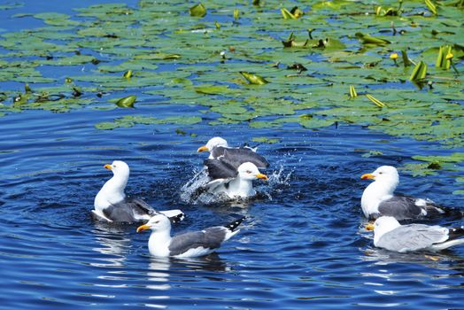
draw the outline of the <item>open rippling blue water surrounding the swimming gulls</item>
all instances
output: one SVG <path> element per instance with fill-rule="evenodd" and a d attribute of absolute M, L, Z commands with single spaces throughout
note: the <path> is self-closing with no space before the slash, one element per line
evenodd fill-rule
<path fill-rule="evenodd" d="M 203 115 L 205 108 L 151 102 L 142 100 L 135 113 Z M 346 125 L 251 131 L 246 124 L 212 127 L 206 119 L 193 126 L 94 127 L 127 113 L 89 106 L 0 119 L 0 308 L 464 308 L 464 247 L 431 257 L 392 253 L 375 249 L 363 229 L 367 182 L 360 175 L 436 154 L 433 143 Z M 177 128 L 197 136 L 176 134 Z M 259 197 L 222 204 L 182 198 L 182 186 L 205 158 L 197 147 L 211 136 L 233 145 L 254 136 L 281 139 L 259 146 L 272 164 L 270 182 L 256 183 Z M 370 149 L 383 155 L 361 156 Z M 113 159 L 131 167 L 130 195 L 187 214 L 174 233 L 245 215 L 242 230 L 207 258 L 151 258 L 148 234 L 90 219 L 93 198 L 111 176 L 103 166 Z M 463 208 L 452 195 L 462 171 L 402 173 L 398 190 Z"/>

